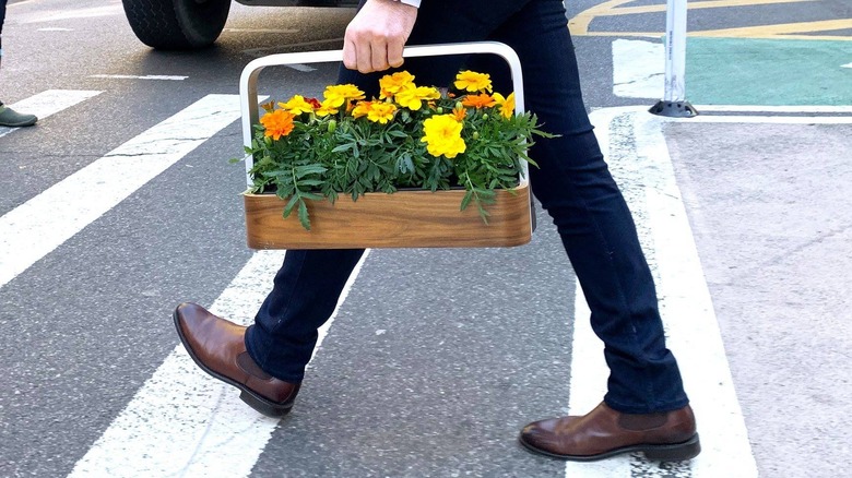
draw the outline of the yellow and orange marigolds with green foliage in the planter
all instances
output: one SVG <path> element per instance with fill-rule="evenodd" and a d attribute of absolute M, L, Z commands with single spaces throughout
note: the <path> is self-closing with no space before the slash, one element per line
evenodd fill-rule
<path fill-rule="evenodd" d="M 460 72 L 454 91 L 418 86 L 406 71 L 379 81 L 379 98 L 351 84 L 331 85 L 323 99 L 295 95 L 262 105 L 255 128 L 250 193 L 274 192 L 310 229 L 306 201 L 399 189 L 464 188 L 487 224 L 495 189 L 518 186 L 521 162 L 539 130 L 529 112 L 514 113 L 514 94 L 493 92 L 488 74 Z M 238 159 L 237 159 L 238 160 Z"/>

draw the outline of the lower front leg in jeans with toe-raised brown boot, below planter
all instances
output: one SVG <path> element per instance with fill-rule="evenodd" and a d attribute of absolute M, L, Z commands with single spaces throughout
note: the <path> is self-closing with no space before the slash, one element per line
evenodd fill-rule
<path fill-rule="evenodd" d="M 270 417 L 287 414 L 317 344 L 364 250 L 287 251 L 255 323 L 242 327 L 181 303 L 174 320 L 187 352 L 205 372 Z"/>

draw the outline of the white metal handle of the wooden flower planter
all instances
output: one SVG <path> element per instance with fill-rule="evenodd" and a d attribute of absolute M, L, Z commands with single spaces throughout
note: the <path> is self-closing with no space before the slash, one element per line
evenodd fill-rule
<path fill-rule="evenodd" d="M 405 47 L 402 56 L 405 58 L 415 57 L 440 57 L 450 55 L 470 55 L 470 53 L 492 53 L 502 58 L 511 70 L 512 89 L 514 91 L 514 110 L 524 111 L 523 106 L 523 74 L 521 72 L 521 60 L 508 45 L 498 41 L 470 41 L 461 44 L 443 45 L 422 45 Z M 301 51 L 297 53 L 269 55 L 250 61 L 242 69 L 239 77 L 239 97 L 242 108 L 242 142 L 246 147 L 251 147 L 253 136 L 252 128 L 258 123 L 258 76 L 267 67 L 277 67 L 297 63 L 327 63 L 343 61 L 343 50 L 326 51 Z M 253 166 L 251 155 L 246 157 L 246 181 L 249 187 L 252 184 L 249 170 Z M 523 177 L 521 186 L 529 181 L 529 170 L 525 162 L 521 162 Z"/>

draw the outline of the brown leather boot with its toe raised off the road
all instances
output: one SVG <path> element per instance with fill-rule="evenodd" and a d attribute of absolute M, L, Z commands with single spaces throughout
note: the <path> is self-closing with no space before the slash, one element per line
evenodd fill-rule
<path fill-rule="evenodd" d="M 300 383 L 275 379 L 258 367 L 246 351 L 246 327 L 213 315 L 196 303 L 175 309 L 180 342 L 201 369 L 241 390 L 239 397 L 268 417 L 283 417 L 299 392 Z"/>

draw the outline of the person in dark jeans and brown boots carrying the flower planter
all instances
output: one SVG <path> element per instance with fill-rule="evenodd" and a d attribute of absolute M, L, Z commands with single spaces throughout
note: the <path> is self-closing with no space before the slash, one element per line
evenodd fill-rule
<path fill-rule="evenodd" d="M 695 457 L 700 452 L 695 416 L 665 345 L 653 278 L 631 213 L 583 105 L 563 1 L 412 3 L 417 2 L 362 1 L 346 28 L 340 83 L 353 83 L 369 95 L 377 77 L 403 65 L 405 45 L 501 41 L 520 57 L 528 108 L 544 130 L 558 135 L 536 140 L 530 156 L 540 167 L 531 168 L 530 183 L 573 265 L 611 374 L 596 408 L 584 416 L 532 422 L 521 430 L 520 443 L 572 461 L 628 452 L 660 461 Z M 489 60 L 404 61 L 418 84 L 441 85 L 450 83 L 461 62 Z M 502 70 L 495 88 L 506 81 Z M 317 328 L 333 312 L 363 252 L 288 250 L 253 324 L 238 326 L 201 306 L 182 303 L 174 314 L 178 334 L 203 370 L 241 390 L 242 399 L 258 411 L 282 416 L 299 391 Z"/>

